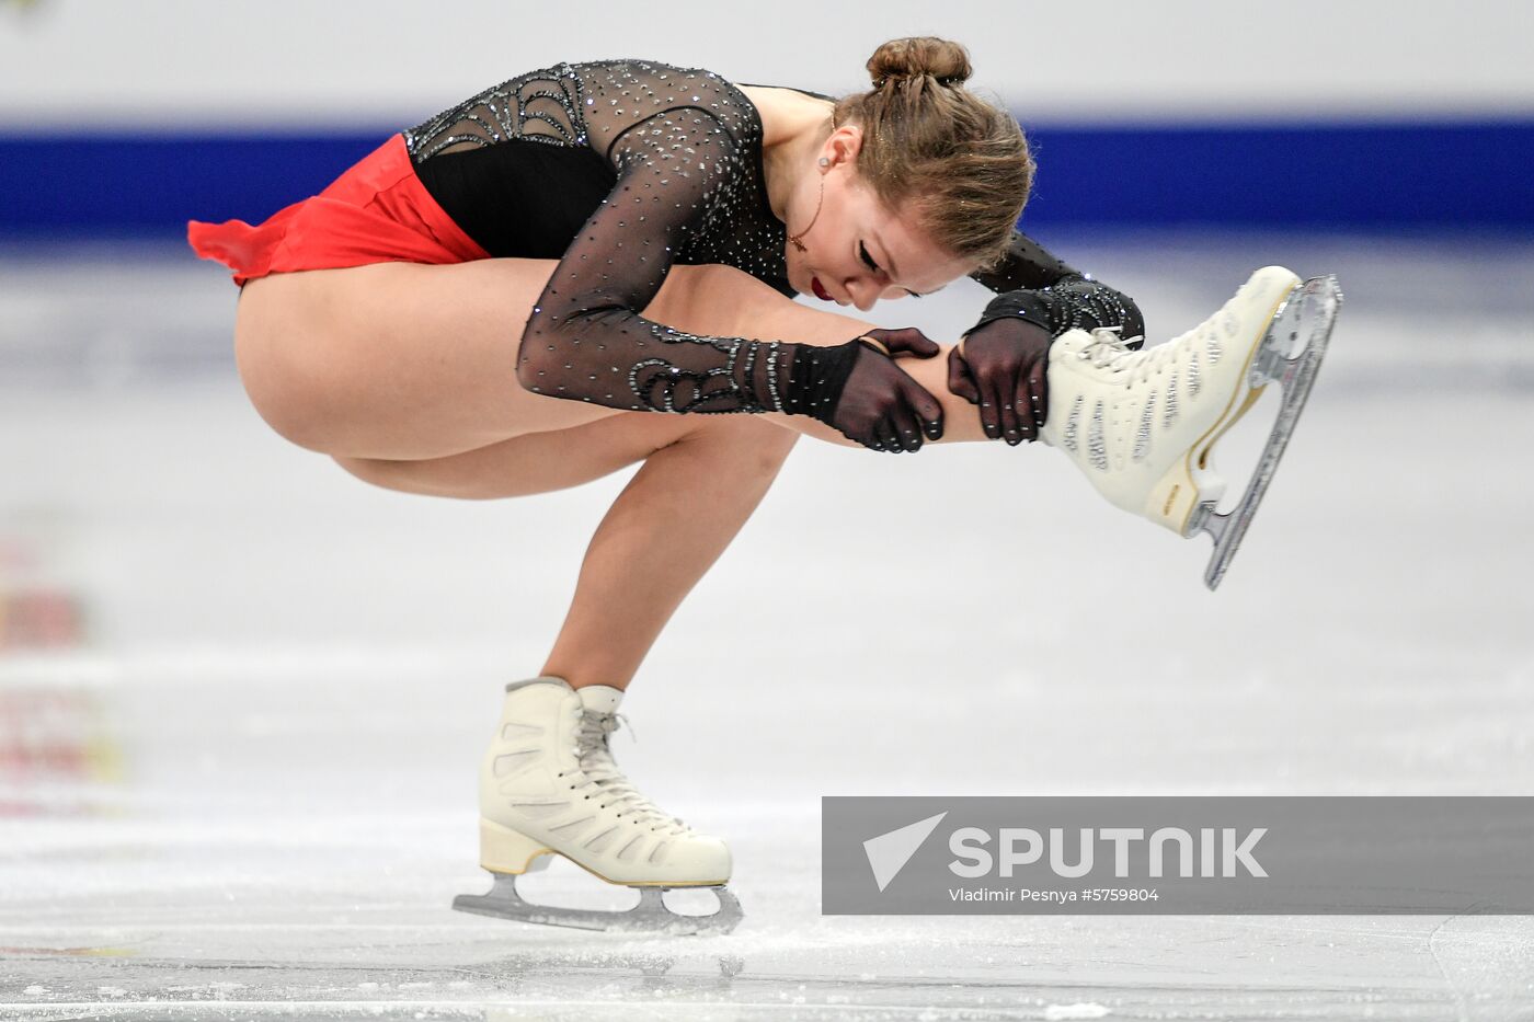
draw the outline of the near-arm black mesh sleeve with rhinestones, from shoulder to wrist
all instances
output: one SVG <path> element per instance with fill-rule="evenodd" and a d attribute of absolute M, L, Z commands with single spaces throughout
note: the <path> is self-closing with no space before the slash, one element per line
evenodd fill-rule
<path fill-rule="evenodd" d="M 736 141 L 709 112 L 673 107 L 626 127 L 609 155 L 617 184 L 538 298 L 517 379 L 538 394 L 629 411 L 793 413 L 787 388 L 801 345 L 684 333 L 638 312 L 703 224 L 727 213 Z"/>

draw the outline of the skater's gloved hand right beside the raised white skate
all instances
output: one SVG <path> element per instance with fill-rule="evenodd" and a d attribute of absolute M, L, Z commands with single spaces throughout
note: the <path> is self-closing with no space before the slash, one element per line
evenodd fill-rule
<path fill-rule="evenodd" d="M 948 351 L 948 390 L 980 405 L 980 425 L 992 440 L 1017 447 L 1039 439 L 1049 416 L 1049 344 L 1043 327 L 1025 319 L 992 319 Z"/>

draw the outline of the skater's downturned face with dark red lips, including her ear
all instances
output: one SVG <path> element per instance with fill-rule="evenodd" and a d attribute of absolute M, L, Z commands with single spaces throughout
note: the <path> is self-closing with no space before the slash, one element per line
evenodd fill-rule
<path fill-rule="evenodd" d="M 930 295 L 976 270 L 939 249 L 910 212 L 891 210 L 858 173 L 862 129 L 838 127 L 821 147 L 816 173 L 805 173 L 788 207 L 804 252 L 784 249 L 788 282 L 802 295 L 868 312 L 879 299 Z M 821 181 L 825 198 L 821 199 Z M 819 215 L 816 215 L 819 206 Z"/>

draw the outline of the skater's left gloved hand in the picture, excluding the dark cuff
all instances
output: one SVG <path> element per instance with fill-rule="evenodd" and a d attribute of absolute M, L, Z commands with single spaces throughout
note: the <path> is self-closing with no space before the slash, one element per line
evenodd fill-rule
<path fill-rule="evenodd" d="M 937 342 L 905 327 L 870 330 L 848 344 L 859 345 L 858 361 L 830 425 L 848 440 L 893 454 L 922 450 L 922 437 L 940 439 L 942 404 L 894 364 L 902 356 L 930 359 L 942 350 Z"/>

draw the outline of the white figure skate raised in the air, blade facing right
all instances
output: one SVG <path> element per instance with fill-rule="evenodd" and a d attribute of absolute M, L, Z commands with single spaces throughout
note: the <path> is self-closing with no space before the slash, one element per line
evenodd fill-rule
<path fill-rule="evenodd" d="M 1209 532 L 1204 583 L 1213 589 L 1278 468 L 1341 302 L 1335 276 L 1301 282 L 1270 265 L 1213 316 L 1154 348 L 1131 351 L 1117 330 L 1065 333 L 1049 348 L 1042 437 L 1114 505 L 1178 536 Z M 1273 381 L 1284 393 L 1278 422 L 1241 502 L 1221 514 L 1226 483 L 1210 453 Z"/>

